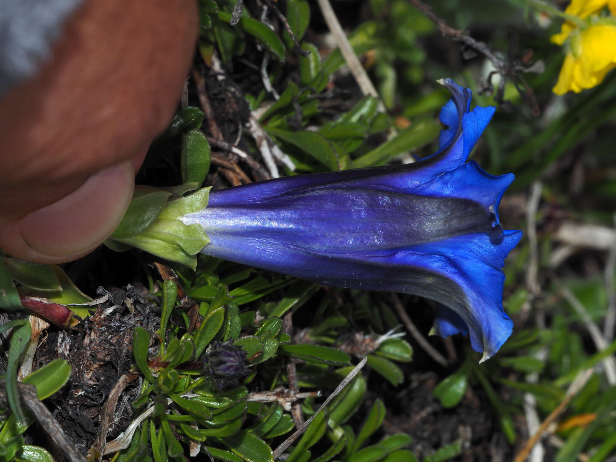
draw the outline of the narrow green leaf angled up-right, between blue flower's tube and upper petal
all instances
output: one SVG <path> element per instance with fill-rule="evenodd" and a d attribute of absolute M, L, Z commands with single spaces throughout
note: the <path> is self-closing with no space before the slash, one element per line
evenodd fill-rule
<path fill-rule="evenodd" d="M 383 165 L 404 152 L 422 147 L 436 139 L 440 126 L 432 119 L 426 119 L 402 130 L 398 136 L 387 140 L 353 161 L 355 168 Z"/>

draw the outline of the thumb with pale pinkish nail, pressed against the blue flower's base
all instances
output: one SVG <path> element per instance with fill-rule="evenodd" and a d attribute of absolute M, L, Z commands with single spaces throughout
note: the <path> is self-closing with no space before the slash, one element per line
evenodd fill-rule
<path fill-rule="evenodd" d="M 66 197 L 18 221 L 3 222 L 0 217 L 0 248 L 39 263 L 79 258 L 120 224 L 133 188 L 130 161 L 103 169 Z"/>

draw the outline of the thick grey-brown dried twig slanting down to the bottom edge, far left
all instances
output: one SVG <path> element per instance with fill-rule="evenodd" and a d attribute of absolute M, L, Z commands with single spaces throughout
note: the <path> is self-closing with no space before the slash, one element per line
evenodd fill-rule
<path fill-rule="evenodd" d="M 55 445 L 67 455 L 70 462 L 86 462 L 86 458 L 77 450 L 75 444 L 68 438 L 60 424 L 54 419 L 52 413 L 36 396 L 36 388 L 25 383 L 17 384 L 23 405 L 34 415 L 38 423 L 49 435 Z M 0 380 L 0 407 L 8 408 L 6 385 Z"/>

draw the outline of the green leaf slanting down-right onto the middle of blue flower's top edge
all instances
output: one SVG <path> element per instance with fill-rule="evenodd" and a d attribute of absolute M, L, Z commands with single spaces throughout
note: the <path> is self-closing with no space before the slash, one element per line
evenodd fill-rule
<path fill-rule="evenodd" d="M 290 143 L 314 157 L 331 171 L 351 167 L 349 153 L 341 145 L 326 139 L 322 134 L 310 131 L 290 132 L 267 126 L 264 129 L 270 135 Z"/>

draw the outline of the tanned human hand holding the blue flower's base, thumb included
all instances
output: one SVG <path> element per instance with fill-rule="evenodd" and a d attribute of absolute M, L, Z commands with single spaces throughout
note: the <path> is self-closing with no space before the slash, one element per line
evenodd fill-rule
<path fill-rule="evenodd" d="M 197 38 L 195 0 L 86 0 L 36 75 L 0 96 L 0 249 L 89 253 L 120 223 Z"/>

